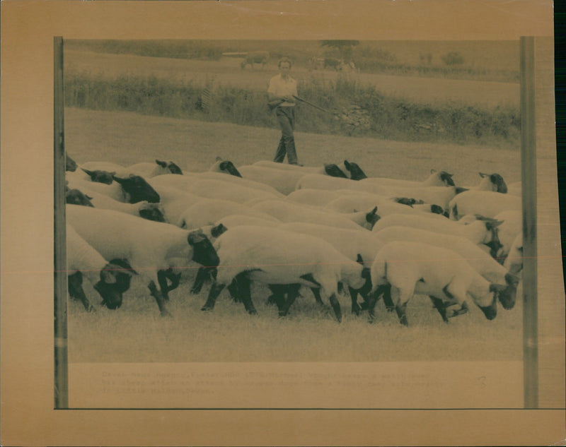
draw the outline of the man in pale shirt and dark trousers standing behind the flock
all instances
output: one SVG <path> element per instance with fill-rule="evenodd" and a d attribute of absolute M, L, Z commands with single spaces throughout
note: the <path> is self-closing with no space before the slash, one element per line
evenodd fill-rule
<path fill-rule="evenodd" d="M 267 88 L 270 108 L 275 108 L 275 116 L 281 127 L 281 139 L 273 161 L 282 163 L 287 154 L 289 165 L 298 165 L 293 131 L 296 105 L 294 96 L 299 95 L 296 91 L 296 81 L 289 76 L 291 60 L 282 57 L 278 66 L 279 74 L 271 78 L 270 86 Z"/>

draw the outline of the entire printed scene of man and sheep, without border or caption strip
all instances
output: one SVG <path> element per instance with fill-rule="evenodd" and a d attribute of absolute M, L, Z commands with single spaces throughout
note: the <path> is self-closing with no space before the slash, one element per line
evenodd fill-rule
<path fill-rule="evenodd" d="M 63 46 L 70 364 L 521 362 L 519 40 Z"/>

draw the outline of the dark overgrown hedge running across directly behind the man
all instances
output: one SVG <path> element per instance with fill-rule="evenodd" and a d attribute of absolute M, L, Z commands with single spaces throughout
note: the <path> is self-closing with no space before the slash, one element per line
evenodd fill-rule
<path fill-rule="evenodd" d="M 69 107 L 277 128 L 266 96 L 233 85 L 209 82 L 202 86 L 156 76 L 107 78 L 83 71 L 67 73 L 65 78 L 65 103 Z M 299 108 L 298 131 L 508 146 L 519 141 L 519 110 L 511 105 L 489 109 L 449 102 L 427 105 L 383 95 L 375 86 L 362 85 L 347 75 L 335 81 L 311 76 L 301 83 L 301 96 L 330 112 L 301 105 L 305 111 Z M 349 105 L 365 109 L 370 125 L 352 126 L 332 113 Z"/>

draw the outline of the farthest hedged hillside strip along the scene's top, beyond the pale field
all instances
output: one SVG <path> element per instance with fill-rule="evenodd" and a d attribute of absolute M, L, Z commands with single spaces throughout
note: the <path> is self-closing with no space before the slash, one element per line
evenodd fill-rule
<path fill-rule="evenodd" d="M 318 40 L 66 40 L 67 49 L 173 59 L 218 61 L 230 52 L 268 51 L 271 63 L 291 56 L 296 67 L 313 68 L 313 58 L 341 56 Z M 343 55 L 343 54 L 342 54 Z M 361 41 L 351 59 L 362 73 L 480 81 L 519 81 L 519 42 Z M 314 65 L 316 66 L 316 65 Z"/>

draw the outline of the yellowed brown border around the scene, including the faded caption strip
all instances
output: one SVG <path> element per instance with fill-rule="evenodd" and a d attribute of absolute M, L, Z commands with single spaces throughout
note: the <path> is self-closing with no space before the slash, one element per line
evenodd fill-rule
<path fill-rule="evenodd" d="M 84 409 L 54 410 L 53 398 L 54 36 L 551 39 L 550 1 L 8 0 L 1 8 L 3 445 L 564 443 L 565 300 L 548 40 L 536 41 L 538 388 L 545 410 L 520 410 L 521 359 L 76 363 L 69 365 L 69 405 Z M 181 410 L 187 402 L 192 410 Z M 137 410 L 106 410 L 117 407 Z"/>

